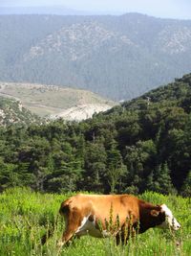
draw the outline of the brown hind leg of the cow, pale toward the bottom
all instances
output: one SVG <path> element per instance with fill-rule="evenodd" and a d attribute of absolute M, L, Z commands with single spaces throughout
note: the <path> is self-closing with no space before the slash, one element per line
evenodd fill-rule
<path fill-rule="evenodd" d="M 75 209 L 73 209 L 73 211 L 68 214 L 66 219 L 67 219 L 66 221 L 67 226 L 66 226 L 66 230 L 62 235 L 61 240 L 57 244 L 59 247 L 63 246 L 64 244 L 70 244 L 70 241 L 73 239 L 74 234 L 77 231 L 82 221 L 80 213 Z"/>

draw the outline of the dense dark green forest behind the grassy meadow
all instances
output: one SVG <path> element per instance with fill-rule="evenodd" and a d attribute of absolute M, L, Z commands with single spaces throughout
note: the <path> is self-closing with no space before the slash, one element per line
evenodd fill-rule
<path fill-rule="evenodd" d="M 0 128 L 0 189 L 190 196 L 191 74 L 92 119 Z"/>

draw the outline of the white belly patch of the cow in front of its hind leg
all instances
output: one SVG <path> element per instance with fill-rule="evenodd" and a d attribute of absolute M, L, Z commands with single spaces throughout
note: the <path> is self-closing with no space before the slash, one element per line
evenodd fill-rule
<path fill-rule="evenodd" d="M 92 237 L 101 238 L 103 235 L 100 230 L 96 228 L 96 217 L 94 216 L 94 221 L 89 221 L 90 215 L 83 218 L 81 225 L 75 231 L 76 236 L 90 235 Z"/>

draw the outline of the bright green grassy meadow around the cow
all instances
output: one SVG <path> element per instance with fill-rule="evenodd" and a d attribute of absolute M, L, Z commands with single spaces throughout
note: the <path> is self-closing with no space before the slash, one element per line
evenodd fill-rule
<path fill-rule="evenodd" d="M 166 203 L 180 221 L 181 228 L 170 230 L 150 229 L 138 235 L 125 246 L 116 245 L 114 239 L 95 239 L 88 236 L 74 244 L 56 247 L 64 229 L 58 216 L 60 203 L 71 195 L 34 193 L 30 189 L 15 188 L 0 195 L 0 255 L 79 255 L 79 256 L 164 256 L 191 255 L 191 200 L 176 196 L 162 196 L 147 192 L 139 198 L 160 204 Z M 43 246 L 40 238 L 53 226 L 53 238 Z"/>

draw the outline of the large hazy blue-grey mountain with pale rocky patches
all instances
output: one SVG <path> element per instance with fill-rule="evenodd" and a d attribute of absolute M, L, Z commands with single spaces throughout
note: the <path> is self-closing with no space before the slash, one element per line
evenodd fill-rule
<path fill-rule="evenodd" d="M 191 71 L 191 21 L 0 16 L 0 81 L 85 88 L 129 100 Z"/>

